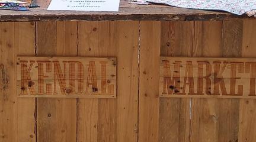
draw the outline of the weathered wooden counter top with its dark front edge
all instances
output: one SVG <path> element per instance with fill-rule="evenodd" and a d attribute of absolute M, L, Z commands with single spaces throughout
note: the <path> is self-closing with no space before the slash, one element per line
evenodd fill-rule
<path fill-rule="evenodd" d="M 119 12 L 47 11 L 49 0 L 37 0 L 34 1 L 34 4 L 40 5 L 41 8 L 34 8 L 33 11 L 1 10 L 0 21 L 193 21 L 249 18 L 245 14 L 234 15 L 228 12 L 175 8 L 164 5 L 132 5 L 124 0 L 120 1 Z"/>

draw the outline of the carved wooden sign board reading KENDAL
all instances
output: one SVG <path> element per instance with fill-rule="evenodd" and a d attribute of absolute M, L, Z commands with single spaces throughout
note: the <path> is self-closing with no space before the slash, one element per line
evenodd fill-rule
<path fill-rule="evenodd" d="M 17 95 L 116 98 L 116 58 L 18 56 Z"/>

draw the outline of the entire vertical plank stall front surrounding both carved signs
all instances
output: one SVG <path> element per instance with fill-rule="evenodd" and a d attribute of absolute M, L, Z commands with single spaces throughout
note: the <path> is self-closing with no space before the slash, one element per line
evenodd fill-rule
<path fill-rule="evenodd" d="M 256 57 L 255 24 L 1 22 L 0 142 L 254 142 L 254 99 L 159 99 L 158 66 L 160 55 Z M 117 99 L 17 98 L 17 54 L 116 56 Z"/>

